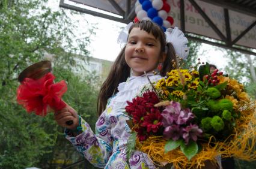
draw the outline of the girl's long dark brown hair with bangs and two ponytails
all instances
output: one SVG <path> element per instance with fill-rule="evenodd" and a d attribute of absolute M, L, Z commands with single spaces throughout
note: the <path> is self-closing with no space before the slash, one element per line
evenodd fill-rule
<path fill-rule="evenodd" d="M 141 20 L 137 23 L 134 23 L 130 29 L 132 31 L 133 28 L 140 28 L 148 32 L 148 34 L 152 34 L 154 38 L 160 41 L 161 53 L 162 56 L 165 52 L 165 47 L 167 47 L 167 53 L 165 61 L 163 62 L 162 70 L 160 71 L 161 76 L 165 76 L 166 73 L 173 69 L 172 67 L 172 59 L 175 60 L 175 50 L 171 43 L 166 44 L 165 33 L 162 28 L 160 28 L 156 23 L 153 23 L 149 20 Z M 100 93 L 98 96 L 97 103 L 97 111 L 98 114 L 102 114 L 102 111 L 105 110 L 108 99 L 118 92 L 117 87 L 121 82 L 126 82 L 127 77 L 130 76 L 130 67 L 126 64 L 124 58 L 124 50 L 126 47 L 123 47 L 114 64 L 111 67 L 110 73 L 100 88 Z"/>

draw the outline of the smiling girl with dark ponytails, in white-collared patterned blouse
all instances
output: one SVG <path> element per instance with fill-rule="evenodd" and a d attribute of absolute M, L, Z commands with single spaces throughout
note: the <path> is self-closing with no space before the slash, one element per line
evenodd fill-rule
<path fill-rule="evenodd" d="M 133 24 L 126 46 L 100 89 L 96 134 L 69 105 L 55 113 L 58 125 L 66 128 L 67 140 L 96 167 L 156 168 L 148 156 L 139 151 L 133 153 L 128 166 L 126 143 L 130 128 L 124 107 L 126 101 L 132 101 L 136 93 L 149 83 L 144 71 L 151 82 L 156 82 L 172 69 L 172 59 L 175 59 L 174 47 L 166 43 L 162 28 L 148 20 Z M 162 65 L 162 70 L 154 75 L 158 65 Z M 73 120 L 73 125 L 66 125 L 69 120 Z"/>

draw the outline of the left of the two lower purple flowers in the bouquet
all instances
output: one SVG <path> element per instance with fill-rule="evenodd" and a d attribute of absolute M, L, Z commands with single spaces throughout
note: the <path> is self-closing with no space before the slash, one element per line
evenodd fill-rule
<path fill-rule="evenodd" d="M 182 129 L 179 125 L 171 125 L 165 128 L 163 131 L 163 136 L 166 139 L 172 138 L 172 140 L 176 141 L 182 135 Z"/>

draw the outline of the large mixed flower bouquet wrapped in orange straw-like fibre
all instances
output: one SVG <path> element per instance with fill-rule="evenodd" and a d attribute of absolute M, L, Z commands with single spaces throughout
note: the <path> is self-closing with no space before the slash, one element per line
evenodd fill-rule
<path fill-rule="evenodd" d="M 255 160 L 255 101 L 242 84 L 209 64 L 180 68 L 127 101 L 132 134 L 127 156 L 138 149 L 156 165 L 201 168 L 216 156 Z"/>

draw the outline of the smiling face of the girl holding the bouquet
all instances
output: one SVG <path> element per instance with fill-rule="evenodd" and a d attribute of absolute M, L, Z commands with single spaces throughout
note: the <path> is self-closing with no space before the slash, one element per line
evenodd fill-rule
<path fill-rule="evenodd" d="M 126 63 L 132 69 L 133 75 L 141 76 L 144 71 L 153 71 L 162 62 L 162 58 L 160 41 L 140 28 L 133 28 L 125 49 Z"/>

